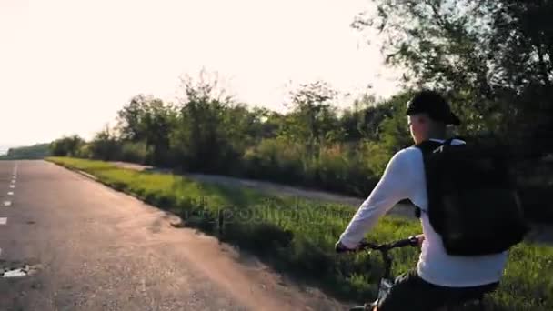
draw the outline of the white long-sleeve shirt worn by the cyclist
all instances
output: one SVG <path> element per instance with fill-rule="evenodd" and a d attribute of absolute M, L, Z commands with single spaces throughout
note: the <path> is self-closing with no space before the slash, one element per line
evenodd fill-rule
<path fill-rule="evenodd" d="M 457 139 L 453 141 L 453 144 L 464 143 Z M 501 278 L 508 252 L 491 256 L 447 255 L 441 237 L 430 225 L 425 213 L 428 205 L 426 176 L 422 152 L 415 146 L 402 149 L 392 156 L 377 186 L 359 206 L 340 236 L 340 242 L 351 248 L 357 246 L 380 216 L 407 198 L 423 210 L 420 221 L 425 240 L 417 263 L 418 276 L 428 283 L 451 287 L 479 286 Z"/>

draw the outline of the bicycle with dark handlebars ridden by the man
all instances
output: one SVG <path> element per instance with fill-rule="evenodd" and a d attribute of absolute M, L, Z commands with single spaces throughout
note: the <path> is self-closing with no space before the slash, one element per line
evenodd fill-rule
<path fill-rule="evenodd" d="M 389 255 L 389 251 L 394 249 L 394 248 L 399 248 L 399 247 L 418 246 L 418 243 L 419 242 L 418 242 L 417 236 L 409 236 L 406 239 L 401 239 L 401 240 L 397 240 L 397 241 L 394 241 L 394 242 L 381 244 L 381 245 L 372 244 L 372 243 L 369 243 L 365 240 L 361 241 L 361 243 L 359 244 L 357 249 L 355 249 L 353 251 L 354 252 L 367 251 L 367 254 L 369 254 L 369 255 L 370 255 L 371 251 L 373 251 L 373 250 L 376 250 L 376 251 L 380 252 L 380 254 L 382 256 L 382 260 L 384 261 L 384 274 L 380 278 L 380 281 L 379 281 L 377 299 L 374 302 L 367 303 L 365 305 L 352 306 L 351 308 L 349 308 L 349 311 L 361 311 L 361 310 L 372 311 L 375 308 L 375 306 L 378 305 L 378 302 L 387 296 L 387 294 L 390 292 L 390 289 L 394 285 L 395 278 L 392 277 L 392 275 L 391 275 L 391 267 L 392 267 L 393 258 L 392 258 L 392 256 Z M 470 303 L 470 302 L 473 302 L 473 301 L 476 300 L 476 302 L 478 304 L 478 310 L 479 311 L 484 311 L 485 310 L 484 309 L 484 303 L 483 303 L 484 296 L 485 296 L 485 294 L 482 294 L 481 296 L 478 296 L 474 300 L 470 300 L 470 301 L 467 301 L 467 302 L 463 303 L 461 306 L 465 306 L 467 303 Z M 453 306 L 453 305 L 443 306 L 443 307 L 438 308 L 436 311 L 452 311 L 453 308 L 455 308 L 455 307 L 457 307 L 457 306 Z"/>

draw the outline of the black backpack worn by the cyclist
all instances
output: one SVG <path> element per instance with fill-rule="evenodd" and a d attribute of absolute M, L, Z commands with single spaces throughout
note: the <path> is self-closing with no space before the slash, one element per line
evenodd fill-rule
<path fill-rule="evenodd" d="M 493 145 L 451 145 L 427 140 L 423 153 L 428 218 L 447 254 L 498 254 L 528 233 L 505 150 Z M 420 216 L 420 209 L 417 210 Z"/>

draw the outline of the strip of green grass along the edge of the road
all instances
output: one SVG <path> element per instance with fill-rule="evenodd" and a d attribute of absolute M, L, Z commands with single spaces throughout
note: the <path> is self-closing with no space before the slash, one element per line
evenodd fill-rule
<path fill-rule="evenodd" d="M 108 186 L 170 210 L 187 226 L 251 251 L 288 276 L 338 298 L 365 301 L 376 295 L 380 257 L 334 253 L 337 236 L 355 213 L 350 206 L 266 196 L 252 189 L 206 185 L 100 161 L 48 160 L 83 170 Z M 384 242 L 420 232 L 416 221 L 385 216 L 367 237 Z M 417 257 L 415 248 L 397 250 L 393 272 L 412 268 Z M 488 310 L 553 310 L 553 247 L 527 243 L 514 247 L 498 292 L 488 298 Z"/>

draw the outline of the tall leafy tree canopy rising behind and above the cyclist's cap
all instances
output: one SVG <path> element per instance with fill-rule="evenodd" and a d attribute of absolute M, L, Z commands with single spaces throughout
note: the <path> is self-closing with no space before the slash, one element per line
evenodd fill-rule
<path fill-rule="evenodd" d="M 534 141 L 538 153 L 553 150 L 535 139 L 553 133 L 546 99 L 553 94 L 552 1 L 374 2 L 376 13 L 357 15 L 352 26 L 384 37 L 387 64 L 406 69 L 407 87 L 446 93 L 465 121 L 461 134 L 494 133 L 512 144 Z"/>

